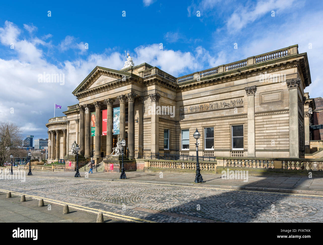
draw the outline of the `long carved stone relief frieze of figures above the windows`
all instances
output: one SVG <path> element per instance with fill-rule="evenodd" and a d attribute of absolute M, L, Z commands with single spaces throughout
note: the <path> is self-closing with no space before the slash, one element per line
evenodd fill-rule
<path fill-rule="evenodd" d="M 224 108 L 232 108 L 237 106 L 243 106 L 243 99 L 234 99 L 230 100 L 230 102 L 221 101 L 221 102 L 211 102 L 206 104 L 188 106 L 188 107 L 181 107 L 180 113 L 192 113 L 192 112 L 199 112 L 199 111 L 209 111 L 209 110 L 217 110 L 217 109 L 224 109 Z"/>

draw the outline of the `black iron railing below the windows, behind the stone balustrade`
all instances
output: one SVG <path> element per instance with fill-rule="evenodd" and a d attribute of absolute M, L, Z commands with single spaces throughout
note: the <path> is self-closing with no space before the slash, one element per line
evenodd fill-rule
<path fill-rule="evenodd" d="M 179 154 L 163 154 L 163 153 L 135 153 L 135 158 L 141 159 L 157 159 L 157 160 L 174 160 L 174 161 L 196 161 L 196 156 L 179 155 Z M 216 162 L 215 157 L 199 156 L 199 161 Z"/>

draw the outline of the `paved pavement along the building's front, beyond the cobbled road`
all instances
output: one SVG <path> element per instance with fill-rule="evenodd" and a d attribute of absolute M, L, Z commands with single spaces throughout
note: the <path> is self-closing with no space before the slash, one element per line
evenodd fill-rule
<path fill-rule="evenodd" d="M 83 168 L 84 169 L 84 168 Z M 103 173 L 82 171 L 81 179 L 98 179 L 109 181 L 120 181 L 120 173 Z M 34 171 L 35 176 L 73 178 L 74 172 L 64 171 Z M 143 173 L 140 171 L 126 172 L 127 180 L 139 183 L 160 183 L 173 185 L 194 185 L 195 173 Z M 290 192 L 300 194 L 319 194 L 323 195 L 323 178 L 307 176 L 255 176 L 248 175 L 248 181 L 244 179 L 223 179 L 221 174 L 203 173 L 203 184 L 195 184 L 204 187 L 215 187 L 225 189 L 247 189 L 274 192 Z"/>

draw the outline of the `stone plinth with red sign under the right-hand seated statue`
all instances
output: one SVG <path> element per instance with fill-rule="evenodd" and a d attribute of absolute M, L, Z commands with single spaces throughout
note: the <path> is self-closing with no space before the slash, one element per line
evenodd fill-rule
<path fill-rule="evenodd" d="M 104 171 L 107 173 L 119 173 L 122 167 L 122 156 L 120 155 L 108 155 L 103 159 L 104 162 Z M 110 164 L 113 164 L 113 168 Z M 129 159 L 123 156 L 123 166 L 125 171 L 136 171 L 136 160 Z"/>

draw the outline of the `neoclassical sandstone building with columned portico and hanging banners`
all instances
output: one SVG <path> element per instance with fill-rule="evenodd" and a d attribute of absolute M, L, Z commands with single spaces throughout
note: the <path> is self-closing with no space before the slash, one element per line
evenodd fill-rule
<path fill-rule="evenodd" d="M 70 154 L 74 140 L 86 158 L 92 150 L 104 157 L 118 137 L 130 159 L 195 155 L 196 128 L 200 156 L 304 157 L 310 84 L 307 54 L 297 45 L 182 77 L 146 63 L 97 66 L 72 92 L 79 103 L 46 124 L 54 143 L 49 158 Z"/>

